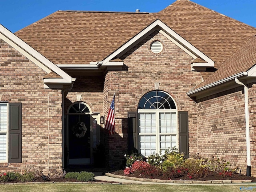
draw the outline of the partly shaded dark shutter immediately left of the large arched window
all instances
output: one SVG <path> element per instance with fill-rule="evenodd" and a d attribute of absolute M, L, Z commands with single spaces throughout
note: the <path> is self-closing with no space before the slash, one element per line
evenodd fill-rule
<path fill-rule="evenodd" d="M 128 112 L 128 152 L 137 152 L 137 126 L 136 111 Z"/>

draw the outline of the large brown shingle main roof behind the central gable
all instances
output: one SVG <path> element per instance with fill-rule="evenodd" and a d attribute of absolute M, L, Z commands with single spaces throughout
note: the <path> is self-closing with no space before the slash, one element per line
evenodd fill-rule
<path fill-rule="evenodd" d="M 159 19 L 219 67 L 256 28 L 190 2 L 177 0 L 158 13 L 57 11 L 16 32 L 55 64 L 102 61 Z"/>

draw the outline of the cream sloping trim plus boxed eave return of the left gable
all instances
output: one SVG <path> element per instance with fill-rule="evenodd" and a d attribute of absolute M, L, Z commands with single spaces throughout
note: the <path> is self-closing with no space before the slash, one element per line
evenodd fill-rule
<path fill-rule="evenodd" d="M 23 40 L 18 38 L 8 29 L 0 24 L 0 38 L 26 56 L 30 61 L 44 70 L 46 73 L 55 72 L 62 78 L 44 78 L 44 88 L 51 88 L 54 84 L 54 88 L 62 88 L 62 84 L 71 84 L 75 81 L 74 78 L 69 76 L 66 72 L 61 70 L 58 66 L 36 51 L 34 48 L 26 44 Z M 57 85 L 58 84 L 58 85 Z"/>

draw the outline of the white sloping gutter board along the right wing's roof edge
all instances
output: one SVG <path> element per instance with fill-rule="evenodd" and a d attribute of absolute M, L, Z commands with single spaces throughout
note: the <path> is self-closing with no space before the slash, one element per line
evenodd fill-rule
<path fill-rule="evenodd" d="M 198 88 L 198 89 L 189 91 L 189 92 L 187 92 L 186 94 L 189 96 L 189 95 L 195 94 L 195 93 L 197 93 L 197 92 L 204 91 L 204 90 L 206 90 L 206 89 L 208 89 L 208 88 L 212 88 L 212 87 L 214 87 L 214 86 L 218 86 L 218 85 L 220 85 L 220 84 L 222 84 L 222 83 L 225 83 L 225 82 L 228 82 L 228 81 L 233 80 L 233 79 L 235 79 L 235 78 L 239 78 L 239 77 L 241 77 L 241 76 L 246 76 L 246 75 L 248 75 L 247 72 L 241 72 L 241 73 L 235 74 L 235 75 L 233 75 L 233 76 L 229 76 L 229 77 L 227 77 L 227 78 L 224 78 L 224 79 L 222 79 L 222 80 L 216 81 L 216 82 L 214 82 L 214 83 L 208 84 L 208 85 L 206 85 L 206 86 L 200 87 L 200 88 Z"/>

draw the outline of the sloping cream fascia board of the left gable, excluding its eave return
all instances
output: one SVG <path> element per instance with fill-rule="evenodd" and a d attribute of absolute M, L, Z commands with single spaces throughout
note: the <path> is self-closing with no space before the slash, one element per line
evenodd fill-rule
<path fill-rule="evenodd" d="M 29 46 L 28 44 L 26 44 L 26 42 L 18 38 L 16 35 L 14 35 L 12 32 L 10 32 L 1 24 L 0 24 L 0 35 L 1 35 L 1 38 L 3 38 L 3 40 L 6 43 L 10 44 L 10 46 L 12 46 L 18 52 L 26 56 L 28 59 L 30 59 L 40 68 L 42 68 L 42 70 L 44 70 L 45 72 L 50 73 L 51 71 L 54 71 L 58 75 L 62 76 L 62 78 L 64 78 L 65 80 L 71 82 L 71 79 L 72 79 L 71 76 L 66 74 L 64 71 L 58 68 L 58 66 L 53 64 L 50 60 L 45 58 L 42 54 L 37 52 L 34 48 Z M 34 59 L 32 59 L 33 57 Z"/>

